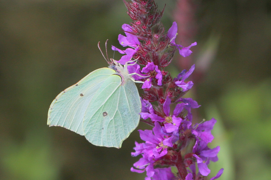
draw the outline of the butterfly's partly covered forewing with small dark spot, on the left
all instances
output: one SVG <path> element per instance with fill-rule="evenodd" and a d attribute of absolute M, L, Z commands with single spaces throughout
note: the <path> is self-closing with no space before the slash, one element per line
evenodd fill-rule
<path fill-rule="evenodd" d="M 89 102 L 104 81 L 114 73 L 115 70 L 107 67 L 97 69 L 62 91 L 50 105 L 47 124 L 85 135 L 83 119 Z"/>

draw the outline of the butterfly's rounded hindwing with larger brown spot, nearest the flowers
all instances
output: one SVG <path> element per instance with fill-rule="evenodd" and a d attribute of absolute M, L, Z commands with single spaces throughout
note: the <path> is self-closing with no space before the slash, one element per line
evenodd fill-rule
<path fill-rule="evenodd" d="M 112 75 L 89 103 L 83 122 L 86 139 L 96 146 L 120 148 L 139 124 L 141 101 L 135 82 Z"/>

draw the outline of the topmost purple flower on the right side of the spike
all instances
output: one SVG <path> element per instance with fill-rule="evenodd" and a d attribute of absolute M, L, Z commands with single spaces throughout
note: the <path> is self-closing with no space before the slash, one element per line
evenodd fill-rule
<path fill-rule="evenodd" d="M 171 45 L 176 46 L 179 49 L 180 55 L 182 55 L 183 57 L 189 56 L 192 53 L 192 51 L 190 50 L 190 48 L 192 46 L 197 45 L 197 42 L 192 43 L 188 47 L 183 47 L 180 44 L 176 44 L 175 43 L 175 38 L 176 38 L 176 35 L 177 35 L 177 30 L 178 30 L 177 23 L 173 22 L 172 26 L 170 27 L 170 29 L 167 32 L 167 37 L 170 39 Z"/>

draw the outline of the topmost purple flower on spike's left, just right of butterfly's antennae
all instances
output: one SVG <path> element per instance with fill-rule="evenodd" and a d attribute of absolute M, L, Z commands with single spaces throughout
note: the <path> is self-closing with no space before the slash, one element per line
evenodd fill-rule
<path fill-rule="evenodd" d="M 122 45 L 123 47 L 129 46 L 132 48 L 121 50 L 115 46 L 112 46 L 112 50 L 114 51 L 117 50 L 121 54 L 126 54 L 123 55 L 119 61 L 117 61 L 120 64 L 125 64 L 127 61 L 130 61 L 132 56 L 136 53 L 136 51 L 138 50 L 138 45 L 140 45 L 140 42 L 135 35 L 129 33 L 132 32 L 130 25 L 123 24 L 122 29 L 124 30 L 126 36 L 123 36 L 121 34 L 119 35 L 118 40 L 120 42 L 120 45 Z"/>

